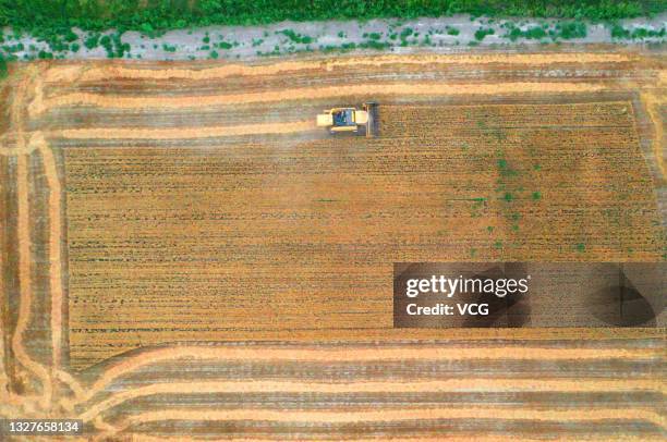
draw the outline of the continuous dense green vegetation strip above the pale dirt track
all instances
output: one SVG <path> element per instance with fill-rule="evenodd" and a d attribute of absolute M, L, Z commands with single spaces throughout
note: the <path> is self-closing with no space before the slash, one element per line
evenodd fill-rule
<path fill-rule="evenodd" d="M 146 34 L 191 26 L 260 25 L 284 20 L 414 19 L 468 13 L 474 16 L 534 16 L 618 20 L 667 10 L 657 0 L 0 0 L 0 27 L 52 33 L 77 26 Z M 57 32 L 57 34 L 60 34 Z"/>

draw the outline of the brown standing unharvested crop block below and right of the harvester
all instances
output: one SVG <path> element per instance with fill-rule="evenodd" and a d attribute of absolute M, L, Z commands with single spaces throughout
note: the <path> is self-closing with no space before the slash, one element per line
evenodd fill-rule
<path fill-rule="evenodd" d="M 655 260 L 632 105 L 380 105 L 381 136 L 65 149 L 70 351 L 391 328 L 392 262 Z"/>

